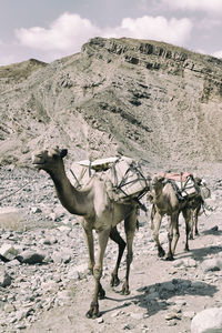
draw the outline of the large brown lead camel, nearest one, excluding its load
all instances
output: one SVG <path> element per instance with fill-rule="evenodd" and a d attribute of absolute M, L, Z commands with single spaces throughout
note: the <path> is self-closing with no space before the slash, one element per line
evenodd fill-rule
<path fill-rule="evenodd" d="M 103 256 L 109 238 L 119 245 L 119 254 L 115 268 L 112 272 L 111 285 L 114 286 L 120 283 L 118 270 L 125 242 L 120 236 L 117 224 L 123 220 L 128 253 L 122 294 L 127 295 L 130 292 L 129 274 L 133 258 L 132 243 L 137 226 L 138 203 L 131 202 L 131 204 L 122 204 L 114 201 L 111 202 L 105 191 L 105 182 L 98 174 L 94 174 L 82 190 L 77 190 L 70 183 L 65 174 L 63 158 L 67 153 L 68 151 L 65 149 L 59 150 L 57 148 L 50 151 L 44 150 L 36 154 L 32 162 L 39 170 L 44 170 L 51 176 L 61 204 L 71 214 L 83 218 L 82 226 L 89 251 L 89 269 L 93 272 L 95 282 L 92 302 L 90 310 L 87 312 L 87 316 L 94 319 L 100 316 L 98 299 L 103 299 L 105 295 L 100 279 L 102 276 Z M 99 251 L 95 260 L 93 230 L 97 231 L 99 240 Z"/>

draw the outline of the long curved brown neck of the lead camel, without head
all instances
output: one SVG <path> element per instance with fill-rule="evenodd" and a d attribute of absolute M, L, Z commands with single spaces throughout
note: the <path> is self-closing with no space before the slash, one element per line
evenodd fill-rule
<path fill-rule="evenodd" d="M 54 183 L 61 204 L 72 214 L 87 215 L 91 212 L 90 191 L 80 192 L 67 178 L 64 165 L 48 172 Z"/>

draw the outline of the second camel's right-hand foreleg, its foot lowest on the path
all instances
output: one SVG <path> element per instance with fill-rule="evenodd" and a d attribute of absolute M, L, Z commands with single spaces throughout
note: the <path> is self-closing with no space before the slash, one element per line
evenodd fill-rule
<path fill-rule="evenodd" d="M 174 233 L 174 243 L 172 246 L 172 241 L 173 241 L 173 231 Z M 170 219 L 170 225 L 169 225 L 169 232 L 168 232 L 168 241 L 169 241 L 169 251 L 167 255 L 167 260 L 173 260 L 173 255 L 175 253 L 175 248 L 178 244 L 178 240 L 180 238 L 180 232 L 179 232 L 179 212 L 173 213 Z"/>

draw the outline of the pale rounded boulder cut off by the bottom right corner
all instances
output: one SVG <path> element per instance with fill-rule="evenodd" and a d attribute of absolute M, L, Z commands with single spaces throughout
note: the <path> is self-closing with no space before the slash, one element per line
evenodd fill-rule
<path fill-rule="evenodd" d="M 211 307 L 199 312 L 191 322 L 191 333 L 222 332 L 222 307 Z"/>

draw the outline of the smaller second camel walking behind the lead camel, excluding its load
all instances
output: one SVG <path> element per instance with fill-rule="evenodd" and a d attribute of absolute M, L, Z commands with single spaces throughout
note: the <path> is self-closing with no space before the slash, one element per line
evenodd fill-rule
<path fill-rule="evenodd" d="M 153 231 L 153 239 L 158 245 L 158 255 L 160 258 L 165 255 L 165 251 L 160 244 L 159 230 L 161 225 L 162 218 L 168 215 L 169 218 L 169 251 L 167 260 L 173 260 L 178 240 L 180 238 L 179 232 L 179 215 L 182 212 L 185 220 L 185 251 L 189 251 L 189 235 L 192 228 L 192 214 L 193 211 L 202 202 L 201 195 L 196 195 L 193 200 L 179 200 L 176 192 L 171 182 L 163 182 L 164 178 L 157 175 L 152 180 L 152 209 L 151 209 L 151 229 Z M 174 234 L 173 234 L 174 232 Z M 172 245 L 172 241 L 174 243 Z"/>

